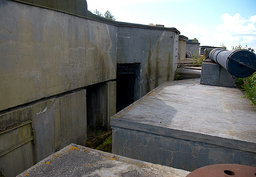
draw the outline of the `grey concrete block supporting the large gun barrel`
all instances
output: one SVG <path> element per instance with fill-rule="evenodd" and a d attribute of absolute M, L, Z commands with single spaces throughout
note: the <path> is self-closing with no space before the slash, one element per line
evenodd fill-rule
<path fill-rule="evenodd" d="M 213 62 L 203 62 L 200 84 L 235 87 L 236 79 L 222 66 Z"/>

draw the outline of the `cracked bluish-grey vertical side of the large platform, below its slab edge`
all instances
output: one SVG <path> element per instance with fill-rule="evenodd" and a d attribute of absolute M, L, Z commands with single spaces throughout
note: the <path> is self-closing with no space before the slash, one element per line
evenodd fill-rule
<path fill-rule="evenodd" d="M 255 152 L 112 126 L 112 153 L 193 171 L 218 163 L 256 166 Z"/>

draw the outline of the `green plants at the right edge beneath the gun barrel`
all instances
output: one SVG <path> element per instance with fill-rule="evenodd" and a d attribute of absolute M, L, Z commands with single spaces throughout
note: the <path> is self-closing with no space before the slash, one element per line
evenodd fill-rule
<path fill-rule="evenodd" d="M 247 78 L 236 78 L 236 84 L 243 90 L 245 97 L 256 107 L 256 73 Z"/>

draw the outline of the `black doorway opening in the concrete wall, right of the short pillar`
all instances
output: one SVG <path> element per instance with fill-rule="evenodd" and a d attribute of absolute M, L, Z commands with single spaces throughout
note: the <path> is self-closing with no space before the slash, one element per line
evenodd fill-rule
<path fill-rule="evenodd" d="M 117 63 L 116 112 L 140 98 L 140 63 Z"/>

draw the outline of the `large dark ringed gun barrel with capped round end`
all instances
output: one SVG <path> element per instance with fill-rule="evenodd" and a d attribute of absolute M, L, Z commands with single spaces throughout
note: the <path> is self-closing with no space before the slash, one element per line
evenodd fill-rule
<path fill-rule="evenodd" d="M 248 77 L 256 71 L 256 55 L 249 50 L 228 51 L 215 48 L 210 51 L 209 59 L 224 67 L 232 76 Z"/>

